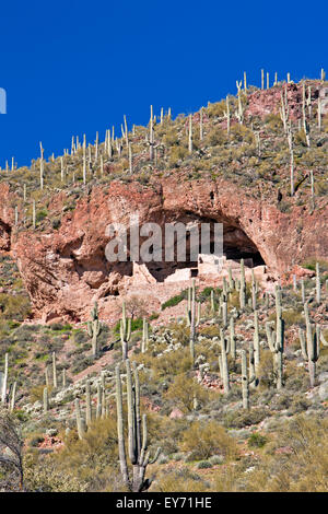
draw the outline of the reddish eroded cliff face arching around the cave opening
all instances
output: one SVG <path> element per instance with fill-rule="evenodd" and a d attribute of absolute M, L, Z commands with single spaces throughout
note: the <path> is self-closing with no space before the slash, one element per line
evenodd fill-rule
<path fill-rule="evenodd" d="M 12 226 L 12 214 L 8 212 L 3 205 L 0 226 L 3 223 Z M 104 318 L 114 320 L 119 315 L 120 295 L 129 293 L 136 278 L 131 277 L 131 262 L 112 264 L 106 259 L 109 241 L 106 227 L 110 223 L 129 226 L 130 215 L 136 213 L 140 225 L 156 222 L 164 226 L 164 223 L 192 220 L 222 222 L 230 248 L 236 245 L 241 250 L 258 250 L 276 278 L 308 257 L 325 258 L 328 254 L 325 230 L 328 210 L 319 205 L 314 213 L 309 206 L 282 213 L 222 179 L 159 179 L 148 187 L 113 182 L 109 187 L 94 187 L 80 199 L 74 211 L 63 214 L 57 231 L 13 230 L 12 255 L 36 316 L 44 320 L 60 316 L 86 319 L 94 301 L 98 301 Z M 149 305 L 159 307 L 156 302 L 164 293 L 163 283 L 149 284 Z"/>

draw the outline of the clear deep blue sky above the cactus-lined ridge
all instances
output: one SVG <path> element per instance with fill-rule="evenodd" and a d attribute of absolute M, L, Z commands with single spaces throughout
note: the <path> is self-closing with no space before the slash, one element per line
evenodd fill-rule
<path fill-rule="evenodd" d="M 327 0 L 12 1 L 0 7 L 0 165 L 62 153 L 71 137 L 103 140 L 172 107 L 189 113 L 247 71 L 319 77 L 327 68 Z"/>

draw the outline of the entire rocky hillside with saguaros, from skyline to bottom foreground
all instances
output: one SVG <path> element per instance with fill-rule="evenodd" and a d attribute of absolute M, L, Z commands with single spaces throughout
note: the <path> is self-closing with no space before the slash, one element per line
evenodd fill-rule
<path fill-rule="evenodd" d="M 3 490 L 328 490 L 327 93 L 238 84 L 1 171 L 0 457 L 24 443 Z M 110 264 L 106 227 L 136 213 L 223 223 L 236 267 Z"/>

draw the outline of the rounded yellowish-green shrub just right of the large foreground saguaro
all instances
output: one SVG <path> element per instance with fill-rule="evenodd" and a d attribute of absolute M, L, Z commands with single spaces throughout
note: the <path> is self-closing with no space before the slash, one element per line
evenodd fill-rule
<path fill-rule="evenodd" d="M 218 454 L 226 458 L 237 456 L 235 441 L 215 421 L 207 423 L 195 421 L 191 423 L 190 428 L 184 433 L 181 446 L 185 452 L 192 452 L 196 460 L 204 460 Z"/>

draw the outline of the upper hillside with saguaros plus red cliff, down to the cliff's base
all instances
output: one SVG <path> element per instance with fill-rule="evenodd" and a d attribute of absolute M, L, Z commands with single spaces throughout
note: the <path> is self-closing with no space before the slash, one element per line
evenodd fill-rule
<path fill-rule="evenodd" d="M 249 86 L 192 116 L 161 112 L 121 138 L 74 138 L 62 156 L 2 171 L 0 248 L 35 315 L 85 319 L 97 301 L 103 317 L 117 316 L 132 266 L 106 260 L 106 226 L 136 213 L 161 226 L 222 222 L 224 249 L 257 257 L 274 279 L 325 259 L 327 92 L 319 80 Z"/>

